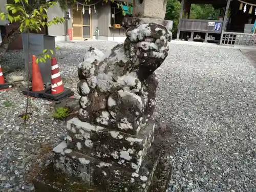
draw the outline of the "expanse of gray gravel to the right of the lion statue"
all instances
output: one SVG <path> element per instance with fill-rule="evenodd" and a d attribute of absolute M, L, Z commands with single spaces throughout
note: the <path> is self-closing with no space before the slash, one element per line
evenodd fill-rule
<path fill-rule="evenodd" d="M 256 191 L 256 71 L 239 50 L 172 45 L 158 110 L 178 141 L 170 191 Z"/>

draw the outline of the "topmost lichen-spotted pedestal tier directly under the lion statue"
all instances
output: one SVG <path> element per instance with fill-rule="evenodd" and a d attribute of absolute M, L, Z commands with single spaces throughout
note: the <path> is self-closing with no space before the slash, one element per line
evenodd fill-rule
<path fill-rule="evenodd" d="M 136 171 L 154 141 L 155 126 L 150 120 L 139 134 L 130 135 L 73 118 L 67 122 L 68 148 Z"/>

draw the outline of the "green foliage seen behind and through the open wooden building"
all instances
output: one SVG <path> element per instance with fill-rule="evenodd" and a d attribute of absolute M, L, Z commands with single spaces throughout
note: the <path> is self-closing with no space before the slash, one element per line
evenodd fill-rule
<path fill-rule="evenodd" d="M 190 9 L 191 19 L 218 19 L 220 10 L 215 10 L 214 7 L 208 4 L 192 4 Z M 178 0 L 167 0 L 165 19 L 173 20 L 173 36 L 176 37 L 178 30 L 178 23 L 180 17 L 180 2 Z M 183 14 L 184 17 L 184 14 Z"/>

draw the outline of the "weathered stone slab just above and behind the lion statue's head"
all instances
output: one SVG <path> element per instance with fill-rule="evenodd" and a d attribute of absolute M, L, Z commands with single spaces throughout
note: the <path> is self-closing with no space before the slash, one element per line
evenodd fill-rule
<path fill-rule="evenodd" d="M 172 20 L 164 20 L 160 18 L 149 18 L 149 17 L 125 17 L 123 19 L 123 27 L 128 29 L 129 27 L 137 26 L 141 23 L 156 23 L 161 24 L 168 30 L 173 29 L 174 22 Z"/>

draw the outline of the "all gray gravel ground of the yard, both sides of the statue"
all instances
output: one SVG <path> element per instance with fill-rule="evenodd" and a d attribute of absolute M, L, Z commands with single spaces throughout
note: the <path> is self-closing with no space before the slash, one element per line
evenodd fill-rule
<path fill-rule="evenodd" d="M 114 45 L 58 43 L 65 85 L 75 91 L 76 65 L 86 49 L 105 52 Z M 6 77 L 25 74 L 21 57 L 6 54 Z M 157 111 L 175 125 L 177 141 L 169 191 L 256 191 L 256 72 L 250 61 L 239 50 L 170 44 L 157 73 Z M 34 161 L 40 166 L 35 157 L 42 145 L 55 146 L 65 134 L 51 117 L 52 105 L 40 99 L 30 100 L 33 113 L 24 126 L 18 116 L 25 104 L 18 90 L 0 92 L 0 191 L 33 190 L 25 182 L 29 167 Z"/>

